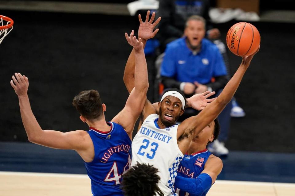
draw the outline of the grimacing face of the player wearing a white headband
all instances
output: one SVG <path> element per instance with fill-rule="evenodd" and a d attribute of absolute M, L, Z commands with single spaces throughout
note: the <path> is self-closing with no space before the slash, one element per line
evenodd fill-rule
<path fill-rule="evenodd" d="M 167 96 L 161 102 L 159 117 L 164 125 L 174 125 L 182 111 L 182 103 L 179 98 Z"/>

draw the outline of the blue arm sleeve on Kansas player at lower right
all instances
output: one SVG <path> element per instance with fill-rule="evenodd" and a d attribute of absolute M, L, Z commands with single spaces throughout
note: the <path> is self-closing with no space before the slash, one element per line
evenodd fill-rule
<path fill-rule="evenodd" d="M 206 173 L 200 174 L 196 179 L 176 176 L 174 185 L 180 190 L 189 193 L 191 196 L 198 196 L 210 189 L 212 179 L 210 175 Z"/>

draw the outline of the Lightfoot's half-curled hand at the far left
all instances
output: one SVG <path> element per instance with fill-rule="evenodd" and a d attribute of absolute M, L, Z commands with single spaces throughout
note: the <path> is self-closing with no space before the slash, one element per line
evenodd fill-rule
<path fill-rule="evenodd" d="M 20 73 L 14 73 L 10 85 L 18 96 L 23 96 L 28 93 L 29 79 Z"/>

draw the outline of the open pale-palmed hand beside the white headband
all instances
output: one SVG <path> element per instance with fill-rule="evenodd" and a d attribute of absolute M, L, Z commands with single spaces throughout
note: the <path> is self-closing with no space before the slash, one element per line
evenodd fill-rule
<path fill-rule="evenodd" d="M 209 90 L 201 94 L 195 94 L 191 98 L 187 99 L 188 105 L 194 108 L 195 110 L 203 110 L 208 105 L 208 103 L 213 102 L 215 99 L 217 99 L 207 99 L 214 94 L 215 91 L 210 92 Z"/>

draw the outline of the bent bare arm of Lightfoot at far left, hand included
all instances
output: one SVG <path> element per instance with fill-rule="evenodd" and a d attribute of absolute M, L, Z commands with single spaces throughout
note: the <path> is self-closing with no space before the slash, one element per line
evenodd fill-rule
<path fill-rule="evenodd" d="M 87 144 L 83 142 L 83 136 L 87 134 L 85 131 L 77 130 L 63 133 L 60 131 L 41 129 L 30 106 L 27 94 L 29 79 L 25 75 L 15 73 L 12 76 L 10 84 L 18 95 L 22 122 L 30 142 L 50 148 L 73 150 L 83 150 L 87 148 Z"/>

